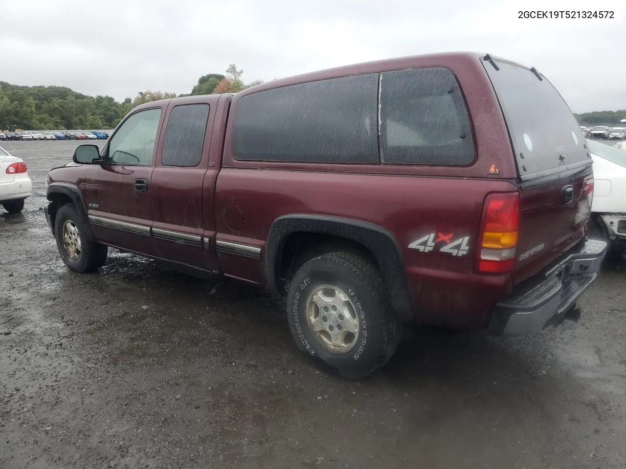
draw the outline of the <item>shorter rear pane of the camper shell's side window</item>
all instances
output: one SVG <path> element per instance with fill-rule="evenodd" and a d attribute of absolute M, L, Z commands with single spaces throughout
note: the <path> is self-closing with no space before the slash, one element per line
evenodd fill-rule
<path fill-rule="evenodd" d="M 422 68 L 381 74 L 381 159 L 438 166 L 474 161 L 467 109 L 451 71 Z"/>

